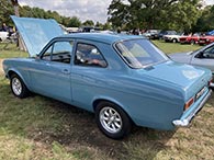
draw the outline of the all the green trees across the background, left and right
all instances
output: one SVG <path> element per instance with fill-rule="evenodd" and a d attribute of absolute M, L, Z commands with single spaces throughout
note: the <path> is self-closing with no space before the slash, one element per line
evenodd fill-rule
<path fill-rule="evenodd" d="M 0 22 L 13 25 L 14 14 L 10 0 L 0 0 Z M 20 7 L 20 16 L 55 19 L 67 27 L 90 25 L 103 30 L 158 28 L 178 32 L 207 32 L 214 30 L 214 5 L 204 0 L 112 0 L 108 8 L 108 22 L 102 24 L 77 16 L 63 16 L 56 11 Z"/>

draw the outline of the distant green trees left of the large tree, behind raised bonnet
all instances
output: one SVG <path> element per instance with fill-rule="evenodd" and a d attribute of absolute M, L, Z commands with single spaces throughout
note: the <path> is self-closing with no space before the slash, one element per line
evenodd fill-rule
<path fill-rule="evenodd" d="M 111 28 L 110 24 L 106 22 L 102 24 L 100 22 L 93 22 L 92 20 L 87 20 L 81 22 L 78 16 L 64 16 L 56 11 L 45 11 L 40 8 L 31 8 L 29 5 L 19 7 L 20 16 L 24 18 L 40 18 L 40 19 L 55 19 L 58 23 L 67 27 L 79 27 L 82 25 L 86 26 L 97 26 L 103 30 Z M 8 25 L 13 25 L 10 15 L 14 15 L 13 5 L 10 0 L 0 0 L 0 25 L 5 23 Z"/>

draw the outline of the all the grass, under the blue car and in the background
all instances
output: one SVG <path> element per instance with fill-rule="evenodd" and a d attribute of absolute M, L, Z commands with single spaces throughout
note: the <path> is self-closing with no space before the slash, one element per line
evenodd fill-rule
<path fill-rule="evenodd" d="M 166 53 L 199 46 L 155 42 Z M 14 45 L 1 58 L 26 56 Z M 123 140 L 101 134 L 93 114 L 32 95 L 15 99 L 0 73 L 0 159 L 2 160 L 214 160 L 214 98 L 188 128 L 160 132 L 135 128 Z"/>

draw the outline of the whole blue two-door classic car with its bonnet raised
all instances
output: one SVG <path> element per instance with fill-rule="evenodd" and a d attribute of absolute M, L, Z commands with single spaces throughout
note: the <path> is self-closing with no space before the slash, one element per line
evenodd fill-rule
<path fill-rule="evenodd" d="M 93 112 L 111 138 L 127 136 L 133 125 L 188 126 L 211 95 L 209 69 L 177 64 L 142 36 L 77 33 L 48 41 L 59 31 L 55 22 L 13 21 L 31 57 L 3 61 L 12 93 L 35 92 Z"/>

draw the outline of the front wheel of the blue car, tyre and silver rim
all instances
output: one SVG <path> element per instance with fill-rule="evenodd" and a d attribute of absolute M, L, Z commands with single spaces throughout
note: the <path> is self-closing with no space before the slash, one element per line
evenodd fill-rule
<path fill-rule="evenodd" d="M 23 80 L 16 73 L 13 73 L 10 77 L 10 88 L 16 98 L 24 99 L 30 94 L 30 91 Z"/>

